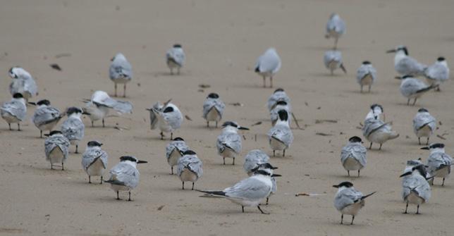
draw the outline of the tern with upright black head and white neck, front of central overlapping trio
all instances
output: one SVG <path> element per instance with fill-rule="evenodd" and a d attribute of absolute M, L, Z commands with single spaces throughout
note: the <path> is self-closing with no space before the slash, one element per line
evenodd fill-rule
<path fill-rule="evenodd" d="M 282 156 L 286 156 L 286 149 L 293 142 L 293 134 L 288 125 L 287 111 L 278 111 L 278 117 L 276 125 L 268 131 L 269 146 L 273 149 L 273 156 L 276 156 L 276 150 L 283 151 Z"/>

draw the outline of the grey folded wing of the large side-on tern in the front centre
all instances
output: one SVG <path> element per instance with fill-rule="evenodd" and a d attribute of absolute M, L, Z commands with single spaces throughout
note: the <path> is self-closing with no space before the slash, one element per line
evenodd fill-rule
<path fill-rule="evenodd" d="M 223 192 L 226 197 L 235 199 L 263 199 L 268 197 L 271 192 L 271 186 L 266 185 L 264 182 L 250 177 L 228 187 Z"/>

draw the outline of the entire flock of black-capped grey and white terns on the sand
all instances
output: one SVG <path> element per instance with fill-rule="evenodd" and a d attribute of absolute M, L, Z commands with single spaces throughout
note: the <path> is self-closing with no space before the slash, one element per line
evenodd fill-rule
<path fill-rule="evenodd" d="M 326 51 L 324 55 L 325 66 L 331 71 L 331 74 L 337 68 L 341 68 L 346 73 L 342 54 L 336 49 L 338 39 L 344 34 L 344 21 L 339 15 L 332 14 L 326 25 L 326 37 L 334 38 L 334 49 Z M 408 50 L 405 46 L 398 46 L 388 52 L 395 53 L 395 70 L 400 74 L 398 79 L 402 80 L 400 92 L 407 98 L 407 105 L 410 104 L 411 99 L 414 99 L 413 105 L 415 105 L 417 99 L 431 89 L 439 91 L 442 83 L 449 78 L 449 68 L 443 57 L 438 58 L 433 65 L 425 66 L 417 62 L 415 58 L 408 56 Z M 171 74 L 173 74 L 173 70 L 177 70 L 177 74 L 180 74 L 180 68 L 183 67 L 184 62 L 185 53 L 182 46 L 180 44 L 173 45 L 166 53 L 166 63 Z M 262 76 L 264 87 L 266 87 L 266 77 L 269 77 L 269 86 L 273 87 L 273 76 L 280 68 L 281 58 L 276 49 L 270 48 L 257 59 L 255 72 Z M 92 126 L 94 126 L 95 121 L 102 120 L 104 127 L 104 119 L 109 111 L 131 113 L 133 110 L 133 104 L 130 102 L 113 99 L 104 91 L 96 91 L 92 94 L 91 99 L 85 101 L 85 107 L 72 106 L 61 113 L 58 108 L 52 107 L 47 99 L 39 100 L 36 103 L 29 101 L 37 96 L 38 89 L 35 80 L 26 70 L 13 67 L 9 70 L 9 75 L 13 79 L 10 85 L 13 98 L 1 106 L 1 117 L 6 120 L 10 130 L 11 124 L 14 123 L 17 123 L 18 130 L 20 130 L 20 123 L 25 120 L 28 104 L 36 106 L 32 122 L 39 129 L 40 137 L 42 137 L 43 132 L 49 131 L 49 134 L 45 135 L 47 138 L 44 141 L 44 150 L 52 169 L 61 164 L 59 167 L 64 170 L 64 163 L 68 158 L 71 145 L 75 146 L 75 153 L 78 153 L 78 145 L 85 132 L 82 115 L 90 118 Z M 123 54 L 116 54 L 111 59 L 109 75 L 114 82 L 115 97 L 118 95 L 118 84 L 123 85 L 123 97 L 125 97 L 126 85 L 133 78 L 133 70 Z M 428 83 L 419 80 L 418 76 L 426 77 Z M 361 92 L 363 92 L 364 86 L 367 86 L 370 92 L 376 79 L 376 69 L 372 66 L 372 63 L 364 61 L 357 70 L 357 82 L 361 87 Z M 267 105 L 272 123 L 272 128 L 267 134 L 269 146 L 274 155 L 276 155 L 276 151 L 281 151 L 282 156 L 285 156 L 286 149 L 293 143 L 293 133 L 290 130 L 290 117 L 292 116 L 290 98 L 283 89 L 279 88 L 271 94 Z M 218 123 L 223 118 L 225 107 L 226 105 L 221 101 L 219 94 L 208 94 L 203 104 L 202 113 L 202 117 L 207 122 L 207 127 L 210 123 L 215 123 L 216 128 L 218 127 Z M 176 175 L 182 182 L 183 190 L 185 189 L 185 182 L 192 182 L 192 190 L 194 190 L 195 182 L 202 177 L 202 161 L 197 157 L 196 152 L 188 147 L 183 138 L 173 138 L 173 132 L 178 130 L 183 122 L 183 115 L 178 106 L 172 104 L 169 100 L 164 104 L 157 102 L 147 110 L 149 111 L 150 128 L 159 130 L 161 139 L 164 139 L 165 133 L 170 133 L 171 141 L 166 147 L 166 159 L 168 165 L 171 166 L 171 174 L 173 174 L 173 167 L 176 166 Z M 65 116 L 68 118 L 62 123 L 61 129 L 55 130 L 57 123 Z M 427 138 L 426 147 L 422 149 L 429 149 L 431 153 L 427 163 L 423 163 L 421 159 L 407 161 L 403 175 L 400 175 L 403 178 L 402 197 L 407 204 L 405 213 L 407 213 L 408 204 L 416 204 L 416 213 L 419 213 L 419 205 L 428 201 L 431 196 L 429 182 L 433 185 L 434 178 L 442 178 L 441 185 L 444 185 L 445 178 L 450 174 L 450 166 L 452 165 L 451 157 L 445 153 L 444 144 L 429 144 L 429 137 L 433 135 L 436 129 L 436 119 L 431 116 L 426 108 L 418 110 L 413 120 L 413 127 L 419 144 L 421 144 L 422 137 Z M 235 121 L 226 121 L 222 124 L 221 134 L 216 140 L 216 149 L 219 156 L 223 158 L 224 165 L 226 158 L 232 159 L 234 165 L 235 158 L 240 155 L 242 140 L 238 130 L 248 130 L 248 128 L 240 126 Z M 373 143 L 380 144 L 379 149 L 381 149 L 385 142 L 399 137 L 399 134 L 393 130 L 392 123 L 386 122 L 384 108 L 379 104 L 370 107 L 370 111 L 364 120 L 362 135 L 370 142 L 369 149 L 372 149 Z M 340 161 L 343 168 L 347 170 L 348 176 L 350 176 L 350 171 L 357 171 L 357 176 L 360 177 L 360 170 L 366 166 L 367 149 L 362 143 L 360 137 L 350 137 L 348 144 L 341 151 Z M 268 204 L 271 194 L 277 191 L 275 177 L 281 176 L 274 173 L 276 167 L 272 166 L 269 160 L 270 157 L 262 150 L 249 151 L 245 156 L 243 167 L 250 177 L 225 190 L 197 191 L 204 194 L 202 197 L 229 199 L 242 206 L 243 212 L 245 206 L 253 206 L 265 213 L 260 208 L 261 203 L 266 199 L 266 204 Z M 137 187 L 140 179 L 137 164 L 147 163 L 147 161 L 140 161 L 135 156 L 121 156 L 120 162 L 109 171 L 109 179 L 103 180 L 107 161 L 108 154 L 102 150 L 101 142 L 97 140 L 87 142 L 87 148 L 82 154 L 82 168 L 88 175 L 88 181 L 91 183 L 93 176 L 99 176 L 101 184 L 104 181 L 111 185 L 111 189 L 116 192 L 117 199 L 120 199 L 120 192 L 125 191 L 128 192 L 128 200 L 130 200 L 130 191 Z M 340 223 L 343 223 L 343 215 L 346 214 L 352 216 L 352 224 L 355 216 L 364 206 L 365 199 L 375 193 L 364 195 L 355 190 L 351 182 L 340 182 L 333 187 L 338 188 L 334 198 L 334 206 L 342 214 Z"/>

